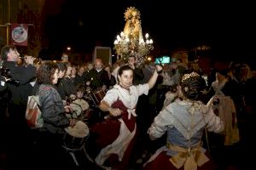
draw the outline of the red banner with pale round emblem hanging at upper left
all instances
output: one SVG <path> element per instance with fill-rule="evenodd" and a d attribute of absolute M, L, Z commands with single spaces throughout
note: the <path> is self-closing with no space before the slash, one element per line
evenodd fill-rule
<path fill-rule="evenodd" d="M 13 45 L 27 46 L 28 26 L 27 24 L 12 24 L 11 37 Z"/>

